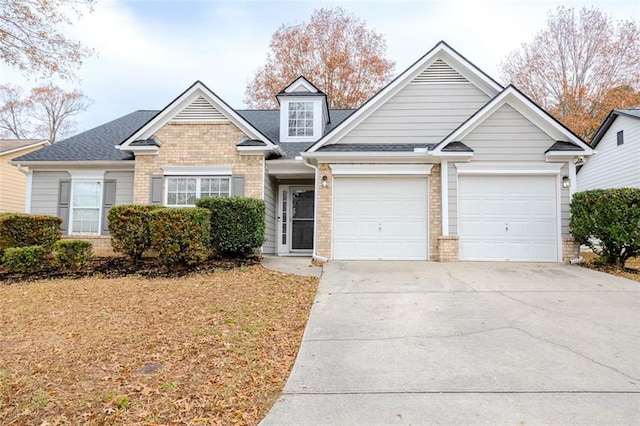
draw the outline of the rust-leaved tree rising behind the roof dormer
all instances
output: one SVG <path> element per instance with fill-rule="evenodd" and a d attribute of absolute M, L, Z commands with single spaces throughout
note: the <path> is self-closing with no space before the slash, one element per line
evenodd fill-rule
<path fill-rule="evenodd" d="M 382 35 L 340 8 L 319 9 L 308 23 L 282 25 L 271 38 L 266 64 L 247 85 L 245 103 L 277 107 L 275 95 L 305 76 L 328 96 L 332 108 L 355 108 L 391 80 Z"/>

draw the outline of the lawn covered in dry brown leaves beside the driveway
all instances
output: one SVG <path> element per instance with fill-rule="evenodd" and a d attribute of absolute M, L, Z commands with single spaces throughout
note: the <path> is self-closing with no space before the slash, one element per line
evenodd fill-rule
<path fill-rule="evenodd" d="M 0 286 L 0 424 L 256 424 L 317 279 L 261 266 Z"/>

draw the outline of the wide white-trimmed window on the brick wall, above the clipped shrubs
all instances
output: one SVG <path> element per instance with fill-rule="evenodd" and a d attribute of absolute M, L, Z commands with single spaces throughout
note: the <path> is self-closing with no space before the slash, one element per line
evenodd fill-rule
<path fill-rule="evenodd" d="M 166 182 L 169 207 L 193 207 L 197 198 L 228 197 L 231 195 L 229 177 L 168 177 Z"/>

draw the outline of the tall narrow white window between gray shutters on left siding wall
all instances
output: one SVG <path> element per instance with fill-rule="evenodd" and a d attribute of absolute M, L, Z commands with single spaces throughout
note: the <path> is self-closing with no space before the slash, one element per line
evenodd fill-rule
<path fill-rule="evenodd" d="M 74 234 L 100 233 L 102 181 L 73 180 L 71 198 L 71 232 Z"/>

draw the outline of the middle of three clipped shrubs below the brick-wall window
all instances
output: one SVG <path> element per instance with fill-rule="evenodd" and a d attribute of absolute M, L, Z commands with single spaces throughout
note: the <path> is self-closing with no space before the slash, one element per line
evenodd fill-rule
<path fill-rule="evenodd" d="M 209 211 L 163 208 L 150 213 L 151 246 L 167 267 L 195 265 L 209 255 Z"/>

